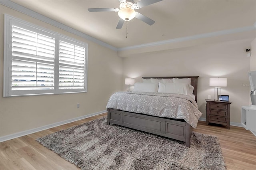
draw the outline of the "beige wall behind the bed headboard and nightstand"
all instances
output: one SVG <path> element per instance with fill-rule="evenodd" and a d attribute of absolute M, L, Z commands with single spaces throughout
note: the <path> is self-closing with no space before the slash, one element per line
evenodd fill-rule
<path fill-rule="evenodd" d="M 214 98 L 214 87 L 209 87 L 210 77 L 227 77 L 228 87 L 222 95 L 230 95 L 230 121 L 240 123 L 241 106 L 248 105 L 248 71 L 250 58 L 245 49 L 252 40 L 222 42 L 195 47 L 142 53 L 124 58 L 124 78 L 141 76 L 200 76 L 198 79 L 198 107 L 206 117 L 208 95 Z M 127 87 L 123 85 L 123 88 Z"/>

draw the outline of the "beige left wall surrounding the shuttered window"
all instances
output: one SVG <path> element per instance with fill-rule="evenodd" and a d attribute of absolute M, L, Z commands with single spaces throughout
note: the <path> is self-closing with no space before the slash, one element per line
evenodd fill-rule
<path fill-rule="evenodd" d="M 88 92 L 3 97 L 4 14 L 88 43 Z M 115 67 L 113 67 L 115 65 Z M 116 51 L 0 5 L 0 135 L 65 121 L 106 110 L 108 98 L 122 89 L 122 58 Z M 76 104 L 80 103 L 80 108 Z"/>

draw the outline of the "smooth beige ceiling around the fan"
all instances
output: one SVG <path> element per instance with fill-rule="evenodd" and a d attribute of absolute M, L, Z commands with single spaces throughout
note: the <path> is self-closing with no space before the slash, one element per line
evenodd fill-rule
<path fill-rule="evenodd" d="M 129 0 L 127 0 L 129 1 Z M 138 0 L 134 0 L 138 2 Z M 256 1 L 163 0 L 136 10 L 156 21 L 152 26 L 134 18 L 116 29 L 117 12 L 88 12 L 88 8 L 119 8 L 118 0 L 12 0 L 113 47 L 124 48 L 178 38 L 225 33 L 248 26 L 256 30 Z M 243 29 L 244 28 L 244 29 Z M 250 33 L 256 37 L 255 31 Z M 221 34 L 220 34 L 221 35 Z"/>

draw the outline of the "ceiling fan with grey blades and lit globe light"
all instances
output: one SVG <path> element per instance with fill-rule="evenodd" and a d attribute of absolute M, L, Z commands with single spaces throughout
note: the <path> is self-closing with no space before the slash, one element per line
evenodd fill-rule
<path fill-rule="evenodd" d="M 130 21 L 134 17 L 142 20 L 148 25 L 152 25 L 155 23 L 154 20 L 136 12 L 134 9 L 140 9 L 144 6 L 148 6 L 150 4 L 154 4 L 156 2 L 160 2 L 162 0 L 140 0 L 138 2 L 134 2 L 134 0 L 119 0 L 120 9 L 119 8 L 88 8 L 89 12 L 118 12 L 118 16 L 120 17 L 119 22 L 116 26 L 116 29 L 122 28 L 124 21 Z"/>

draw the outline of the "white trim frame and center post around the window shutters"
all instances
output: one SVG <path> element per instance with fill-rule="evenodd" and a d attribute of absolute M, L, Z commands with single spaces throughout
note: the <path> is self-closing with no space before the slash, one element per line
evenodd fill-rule
<path fill-rule="evenodd" d="M 10 36 L 12 36 L 12 33 L 10 32 L 10 26 L 12 25 L 12 22 L 18 22 L 20 24 L 24 24 L 29 27 L 33 27 L 35 29 L 43 30 L 44 32 L 49 32 L 50 34 L 54 34 L 56 37 L 56 41 L 59 41 L 61 39 L 67 39 L 69 41 L 73 41 L 74 43 L 80 43 L 85 47 L 85 85 L 84 89 L 58 89 L 58 71 L 59 71 L 59 44 L 57 43 L 55 45 L 55 61 L 54 61 L 54 89 L 53 90 L 28 90 L 28 93 L 23 93 L 26 91 L 12 91 L 11 87 L 11 78 L 12 78 L 12 47 L 11 43 L 9 42 L 12 40 Z M 88 44 L 85 42 L 81 42 L 79 40 L 76 40 L 74 38 L 70 38 L 68 36 L 64 36 L 62 34 L 59 34 L 57 32 L 53 32 L 51 30 L 48 30 L 46 28 L 36 26 L 34 24 L 28 23 L 24 20 L 20 20 L 18 18 L 12 17 L 8 14 L 4 14 L 4 97 L 12 97 L 12 96 L 28 96 L 28 95 L 49 95 L 49 94 L 63 94 L 63 93 L 84 93 L 87 92 L 87 68 L 88 68 Z M 21 92 L 21 93 L 20 93 Z M 39 92 L 39 93 L 38 93 Z M 42 93 L 44 92 L 44 93 Z"/>

